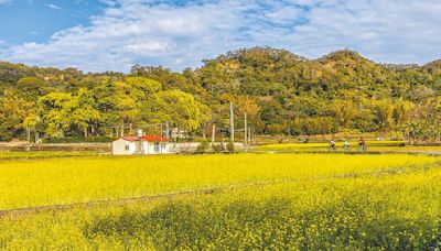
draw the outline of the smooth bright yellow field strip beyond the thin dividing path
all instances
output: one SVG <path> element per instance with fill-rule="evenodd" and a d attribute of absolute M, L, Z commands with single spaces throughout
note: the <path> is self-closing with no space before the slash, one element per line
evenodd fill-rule
<path fill-rule="evenodd" d="M 434 165 L 410 155 L 94 156 L 0 162 L 0 209 Z"/>

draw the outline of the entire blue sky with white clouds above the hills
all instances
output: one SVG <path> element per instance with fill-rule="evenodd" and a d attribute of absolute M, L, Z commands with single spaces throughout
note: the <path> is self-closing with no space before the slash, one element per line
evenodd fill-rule
<path fill-rule="evenodd" d="M 378 63 L 441 58 L 440 0 L 0 0 L 0 61 L 85 72 L 175 72 L 232 50 Z"/>

